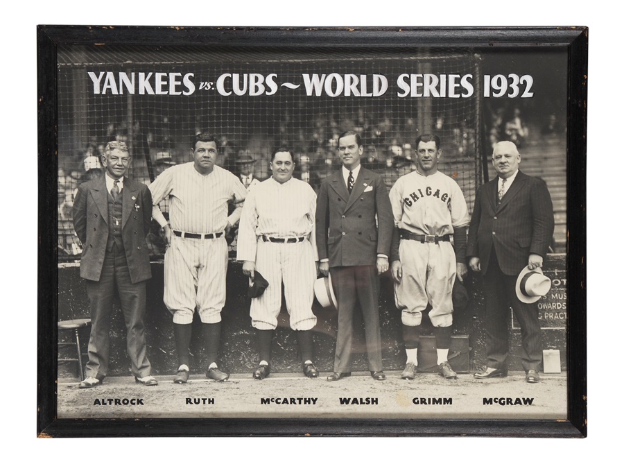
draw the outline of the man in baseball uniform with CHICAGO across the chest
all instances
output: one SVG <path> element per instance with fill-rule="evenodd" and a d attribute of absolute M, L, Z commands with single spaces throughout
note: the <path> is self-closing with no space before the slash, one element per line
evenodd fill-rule
<path fill-rule="evenodd" d="M 407 353 L 401 378 L 416 377 L 422 311 L 429 304 L 440 375 L 456 379 L 448 361 L 452 293 L 456 277 L 462 282 L 467 273 L 468 208 L 457 182 L 437 171 L 442 155 L 440 138 L 419 136 L 415 148 L 417 169 L 399 178 L 390 190 L 395 219 L 390 263 Z"/>

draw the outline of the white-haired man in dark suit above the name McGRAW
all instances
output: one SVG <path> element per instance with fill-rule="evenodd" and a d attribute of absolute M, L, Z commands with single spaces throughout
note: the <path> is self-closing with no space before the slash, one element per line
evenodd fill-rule
<path fill-rule="evenodd" d="M 526 381 L 536 383 L 542 355 L 537 302 L 518 299 L 516 280 L 526 266 L 534 270 L 544 263 L 555 228 L 553 203 L 543 181 L 519 171 L 520 154 L 512 142 L 494 146 L 492 164 L 498 176 L 477 191 L 466 251 L 470 268 L 483 274 L 485 289 L 487 368 L 474 376 L 507 375 L 511 306 L 520 325 Z"/>

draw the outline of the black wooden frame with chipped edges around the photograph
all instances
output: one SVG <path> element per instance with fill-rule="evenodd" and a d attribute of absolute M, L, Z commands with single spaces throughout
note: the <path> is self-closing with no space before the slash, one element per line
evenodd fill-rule
<path fill-rule="evenodd" d="M 284 419 L 58 419 L 56 254 L 58 181 L 57 48 L 63 44 L 150 46 L 566 46 L 568 318 L 567 420 L 284 420 Z M 587 436 L 586 164 L 587 51 L 585 27 L 564 28 L 171 28 L 156 26 L 37 26 L 38 302 L 37 435 L 87 436 Z M 572 191 L 573 189 L 573 191 Z"/>

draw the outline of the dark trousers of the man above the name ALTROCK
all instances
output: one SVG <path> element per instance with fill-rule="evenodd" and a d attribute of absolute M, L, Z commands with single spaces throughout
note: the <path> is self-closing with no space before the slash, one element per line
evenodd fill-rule
<path fill-rule="evenodd" d="M 108 374 L 110 354 L 110 317 L 115 291 L 119 294 L 121 311 L 127 331 L 128 357 L 132 374 L 138 377 L 150 375 L 150 362 L 146 357 L 145 285 L 132 283 L 128 261 L 123 250 L 114 246 L 104 257 L 100 281 L 87 280 L 87 295 L 91 302 L 91 336 L 89 337 L 89 361 L 87 376 L 103 379 Z"/>

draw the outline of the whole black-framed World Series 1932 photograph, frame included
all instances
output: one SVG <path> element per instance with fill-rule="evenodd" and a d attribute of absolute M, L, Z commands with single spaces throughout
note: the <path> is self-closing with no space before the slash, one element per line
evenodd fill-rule
<path fill-rule="evenodd" d="M 587 436 L 587 42 L 39 26 L 37 433 Z"/>

